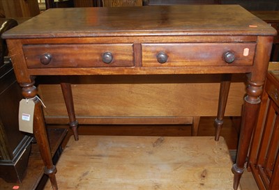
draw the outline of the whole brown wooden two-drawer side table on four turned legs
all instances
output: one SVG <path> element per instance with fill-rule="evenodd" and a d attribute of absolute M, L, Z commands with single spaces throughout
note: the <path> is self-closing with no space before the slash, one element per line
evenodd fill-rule
<path fill-rule="evenodd" d="M 247 73 L 234 173 L 239 186 L 276 30 L 236 5 L 57 8 L 3 33 L 22 95 L 36 103 L 33 131 L 53 189 L 58 189 L 35 78 L 59 75 L 78 140 L 70 75 L 223 74 L 216 141 L 232 73 Z M 64 77 L 63 77 L 64 76 Z M 163 76 L 163 75 L 162 75 Z M 152 81 L 150 81 L 152 83 Z"/>

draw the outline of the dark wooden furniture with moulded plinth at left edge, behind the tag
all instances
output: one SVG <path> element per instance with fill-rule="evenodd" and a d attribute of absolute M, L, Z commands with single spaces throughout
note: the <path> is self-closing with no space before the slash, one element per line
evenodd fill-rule
<path fill-rule="evenodd" d="M 0 19 L 0 35 L 17 25 L 14 19 Z M 33 136 L 18 129 L 18 105 L 22 99 L 6 42 L 0 42 L 0 177 L 22 182 L 27 168 Z"/>

